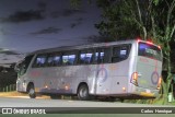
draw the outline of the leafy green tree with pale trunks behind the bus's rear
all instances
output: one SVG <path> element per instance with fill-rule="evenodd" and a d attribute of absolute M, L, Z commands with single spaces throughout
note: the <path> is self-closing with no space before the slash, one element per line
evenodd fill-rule
<path fill-rule="evenodd" d="M 81 0 L 79 0 L 81 1 Z M 161 45 L 163 68 L 167 78 L 163 83 L 164 101 L 171 87 L 171 43 L 175 39 L 175 0 L 96 0 L 104 20 L 95 26 L 110 40 L 142 37 Z"/>

